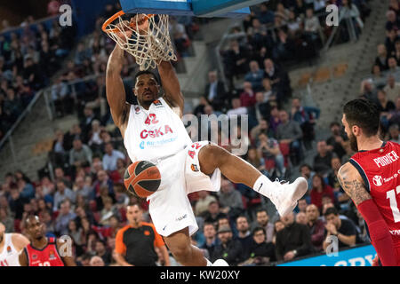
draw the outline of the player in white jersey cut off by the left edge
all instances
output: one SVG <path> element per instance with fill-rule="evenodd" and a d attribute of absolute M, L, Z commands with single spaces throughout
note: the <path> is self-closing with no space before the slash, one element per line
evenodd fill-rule
<path fill-rule="evenodd" d="M 20 266 L 20 251 L 29 244 L 29 240 L 20 233 L 5 233 L 0 222 L 0 266 Z"/>

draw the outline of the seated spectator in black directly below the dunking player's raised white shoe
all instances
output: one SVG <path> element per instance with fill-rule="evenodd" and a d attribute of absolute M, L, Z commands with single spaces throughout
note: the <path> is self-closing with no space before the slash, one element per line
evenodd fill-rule
<path fill-rule="evenodd" d="M 284 229 L 276 233 L 276 258 L 289 261 L 312 252 L 311 234 L 306 225 L 294 222 L 293 212 L 281 217 Z"/>

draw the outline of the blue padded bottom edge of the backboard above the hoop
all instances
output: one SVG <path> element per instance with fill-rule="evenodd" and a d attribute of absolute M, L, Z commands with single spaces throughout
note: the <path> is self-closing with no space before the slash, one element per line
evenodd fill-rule
<path fill-rule="evenodd" d="M 249 6 L 266 0 L 120 0 L 125 13 L 196 17 L 244 17 Z"/>

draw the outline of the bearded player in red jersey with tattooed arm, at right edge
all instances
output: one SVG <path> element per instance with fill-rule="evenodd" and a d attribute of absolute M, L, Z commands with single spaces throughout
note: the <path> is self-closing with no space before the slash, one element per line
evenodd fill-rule
<path fill-rule="evenodd" d="M 381 264 L 400 265 L 400 146 L 380 140 L 380 112 L 367 100 L 349 101 L 342 123 L 357 153 L 340 168 L 340 185 L 364 217 Z"/>

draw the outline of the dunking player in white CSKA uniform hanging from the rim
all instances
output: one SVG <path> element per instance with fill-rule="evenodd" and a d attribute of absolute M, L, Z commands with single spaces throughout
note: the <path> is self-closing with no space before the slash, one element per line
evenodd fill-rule
<path fill-rule="evenodd" d="M 161 184 L 156 193 L 148 197 L 149 213 L 157 233 L 164 237 L 180 264 L 211 265 L 202 251 L 190 243 L 190 235 L 198 226 L 188 193 L 219 191 L 220 173 L 234 183 L 247 185 L 267 196 L 281 216 L 295 208 L 307 191 L 305 178 L 299 177 L 293 184 L 273 183 L 252 165 L 220 146 L 208 141 L 191 141 L 181 121 L 184 98 L 170 62 L 162 61 L 157 66 L 163 88 L 152 72 L 136 74 L 133 92 L 139 105 L 127 104 L 121 78 L 123 61 L 124 51 L 116 44 L 108 59 L 108 104 L 132 162 L 153 162 L 160 170 Z M 164 95 L 160 96 L 162 90 Z"/>

